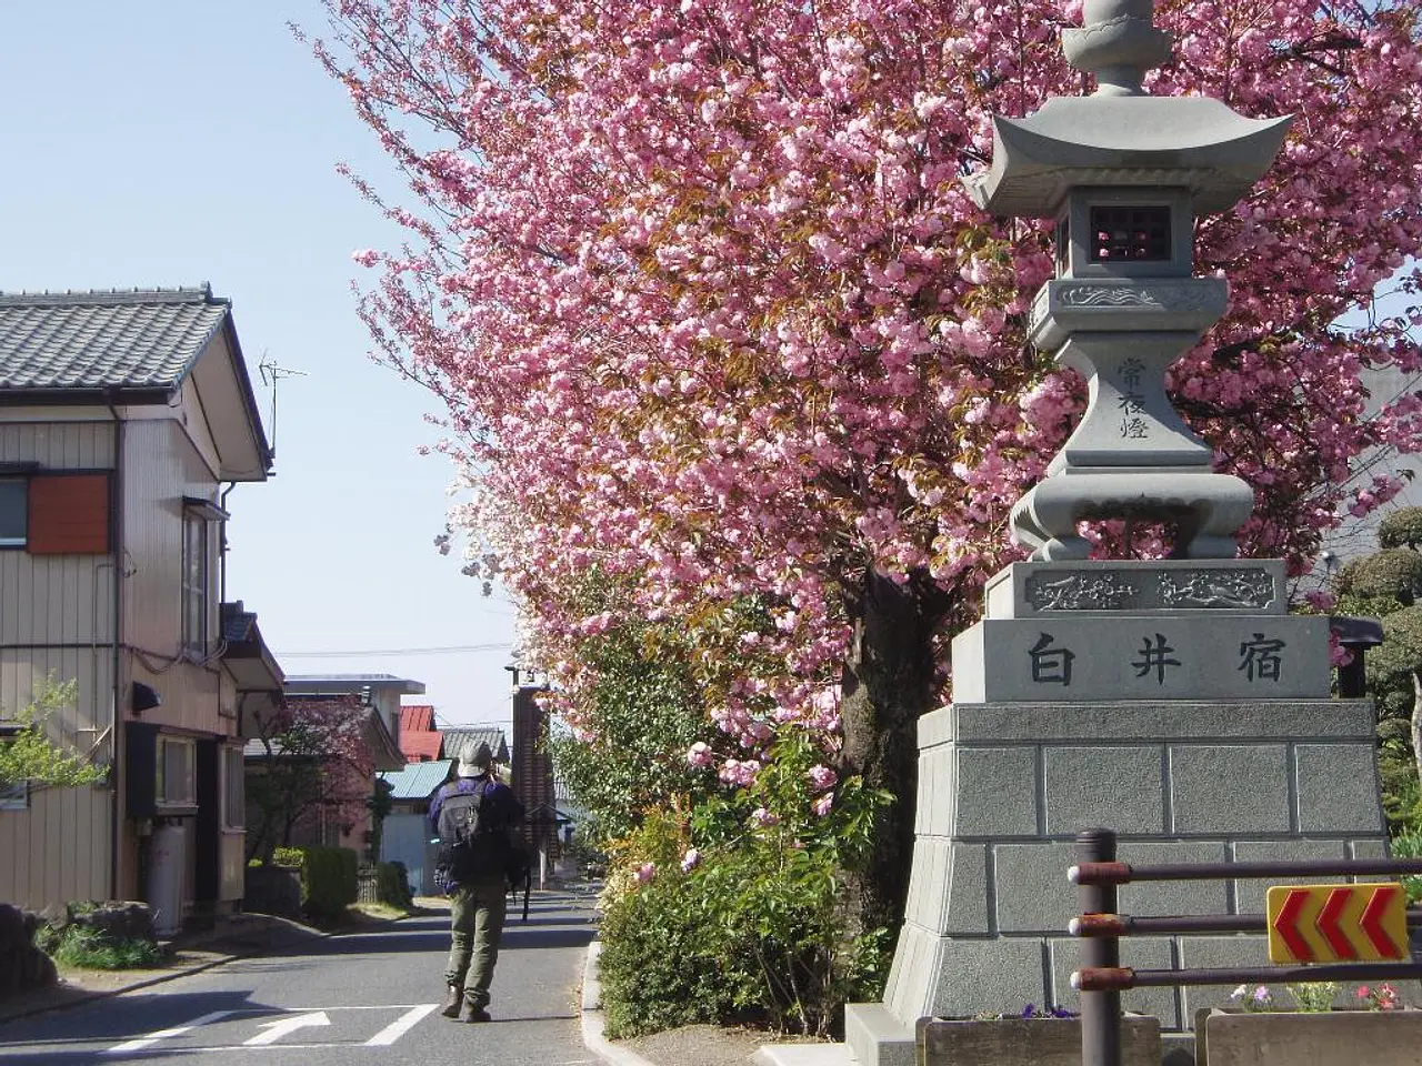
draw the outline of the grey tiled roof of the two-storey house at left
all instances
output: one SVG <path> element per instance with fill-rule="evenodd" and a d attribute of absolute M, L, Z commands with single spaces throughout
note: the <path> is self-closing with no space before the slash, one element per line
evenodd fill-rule
<path fill-rule="evenodd" d="M 206 286 L 0 293 L 0 389 L 172 388 L 229 311 Z"/>

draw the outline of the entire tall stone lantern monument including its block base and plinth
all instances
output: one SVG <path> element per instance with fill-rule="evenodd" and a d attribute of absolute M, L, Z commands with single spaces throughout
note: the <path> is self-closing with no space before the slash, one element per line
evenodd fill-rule
<path fill-rule="evenodd" d="M 1062 34 L 1089 97 L 994 119 L 967 179 L 1000 216 L 1055 223 L 1057 276 L 1031 341 L 1088 381 L 1086 412 L 1012 509 L 1032 559 L 995 574 L 953 640 L 953 704 L 919 719 L 913 870 L 880 1003 L 850 1003 L 862 1066 L 910 1066 L 924 1016 L 1074 1006 L 1074 840 L 1103 826 L 1125 861 L 1361 857 L 1385 847 L 1372 706 L 1331 699 L 1328 621 L 1291 615 L 1281 560 L 1236 559 L 1253 493 L 1213 469 L 1165 372 L 1223 313 L 1194 277 L 1194 220 L 1236 203 L 1288 118 L 1150 97 L 1170 54 L 1149 0 L 1086 0 Z M 1177 532 L 1173 557 L 1088 559 L 1078 523 Z M 1140 915 L 1264 910 L 1257 883 L 1128 887 Z M 1241 965 L 1260 937 L 1143 937 L 1128 965 Z M 1229 988 L 1138 989 L 1125 1006 L 1182 1032 Z"/>

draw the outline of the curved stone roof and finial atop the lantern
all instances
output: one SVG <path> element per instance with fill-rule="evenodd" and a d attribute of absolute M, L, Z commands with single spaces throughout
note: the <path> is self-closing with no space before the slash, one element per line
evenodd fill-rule
<path fill-rule="evenodd" d="M 1054 97 L 1027 118 L 993 119 L 993 165 L 966 179 L 993 215 L 1051 217 L 1075 186 L 1173 186 L 1194 213 L 1223 210 L 1268 169 L 1291 117 L 1251 119 L 1207 97 L 1149 97 L 1145 71 L 1169 57 L 1149 0 L 1088 0 L 1064 34 L 1066 60 L 1096 75 L 1091 97 Z"/>

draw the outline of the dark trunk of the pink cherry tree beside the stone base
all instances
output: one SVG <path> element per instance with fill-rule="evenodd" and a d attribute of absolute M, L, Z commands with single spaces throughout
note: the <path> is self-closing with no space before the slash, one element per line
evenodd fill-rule
<path fill-rule="evenodd" d="M 917 723 L 933 709 L 933 632 L 943 618 L 930 598 L 939 597 L 870 571 L 846 601 L 853 647 L 843 674 L 845 769 L 894 796 L 879 817 L 867 867 L 850 881 L 866 930 L 897 930 L 909 894 Z"/>

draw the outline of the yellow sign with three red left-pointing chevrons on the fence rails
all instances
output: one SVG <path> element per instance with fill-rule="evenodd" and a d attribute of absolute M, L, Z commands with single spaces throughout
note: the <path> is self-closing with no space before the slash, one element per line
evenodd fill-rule
<path fill-rule="evenodd" d="M 1305 884 L 1268 890 L 1270 962 L 1409 958 L 1399 884 Z"/>

